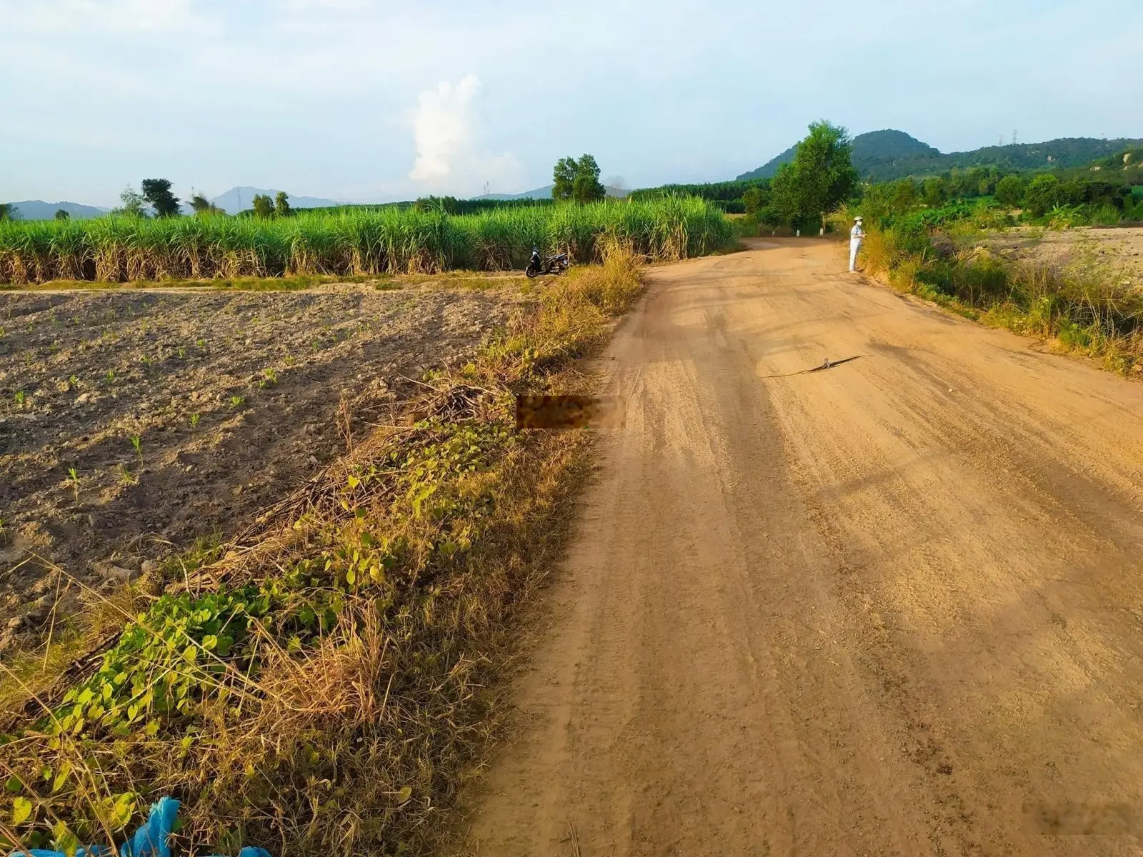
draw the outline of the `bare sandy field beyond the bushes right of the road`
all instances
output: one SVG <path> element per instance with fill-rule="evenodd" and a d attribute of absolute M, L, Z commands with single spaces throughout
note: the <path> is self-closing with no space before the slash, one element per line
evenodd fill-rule
<path fill-rule="evenodd" d="M 1143 287 L 1143 227 L 1052 231 L 1040 227 L 991 233 L 988 247 L 1013 259 L 1033 259 L 1052 267 L 1092 264 L 1121 270 Z"/>

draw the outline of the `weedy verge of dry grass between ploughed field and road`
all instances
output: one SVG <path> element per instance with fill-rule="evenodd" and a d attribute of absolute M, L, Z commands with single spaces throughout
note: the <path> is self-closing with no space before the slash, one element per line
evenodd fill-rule
<path fill-rule="evenodd" d="M 183 852 L 441 844 L 590 448 L 583 431 L 514 433 L 513 394 L 582 389 L 574 360 L 641 290 L 618 248 L 534 288 L 478 360 L 425 379 L 406 425 L 219 560 L 107 607 L 121 633 L 93 668 L 9 671 L 34 715 L 0 746 L 6 847 L 107 841 L 161 794 L 184 801 Z"/>

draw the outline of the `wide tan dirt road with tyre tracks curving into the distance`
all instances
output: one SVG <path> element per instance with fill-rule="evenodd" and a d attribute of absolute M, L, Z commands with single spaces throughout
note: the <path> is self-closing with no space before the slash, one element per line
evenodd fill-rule
<path fill-rule="evenodd" d="M 1141 852 L 1143 384 L 842 267 L 653 272 L 477 854 Z"/>

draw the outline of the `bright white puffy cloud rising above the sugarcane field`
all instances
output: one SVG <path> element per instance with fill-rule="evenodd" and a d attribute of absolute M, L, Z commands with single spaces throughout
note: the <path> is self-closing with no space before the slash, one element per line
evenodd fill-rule
<path fill-rule="evenodd" d="M 410 179 L 461 195 L 485 183 L 499 191 L 517 189 L 523 170 L 515 155 L 481 149 L 475 114 L 480 88 L 480 79 L 467 74 L 455 86 L 446 80 L 421 93 L 413 111 L 416 159 Z"/>

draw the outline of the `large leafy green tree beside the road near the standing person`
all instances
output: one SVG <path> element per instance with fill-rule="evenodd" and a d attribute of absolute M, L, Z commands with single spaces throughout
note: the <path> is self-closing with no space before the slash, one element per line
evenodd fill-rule
<path fill-rule="evenodd" d="M 850 162 L 849 133 L 825 120 L 812 122 L 809 136 L 798 144 L 793 161 L 774 176 L 774 207 L 788 223 L 825 216 L 836 210 L 857 186 L 857 170 Z"/>

